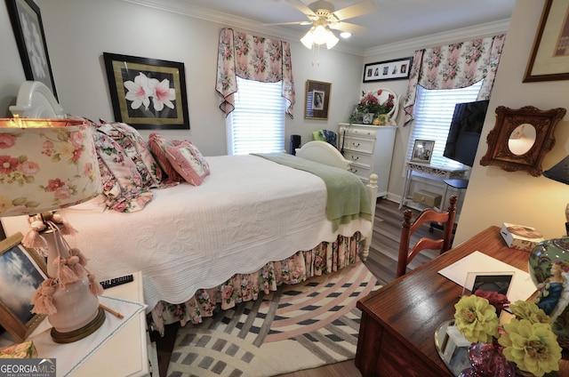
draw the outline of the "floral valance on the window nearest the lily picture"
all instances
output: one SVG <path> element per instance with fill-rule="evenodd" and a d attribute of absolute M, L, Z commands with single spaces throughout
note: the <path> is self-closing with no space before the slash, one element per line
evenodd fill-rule
<path fill-rule="evenodd" d="M 221 96 L 220 109 L 226 116 L 235 108 L 236 76 L 263 83 L 283 80 L 282 95 L 288 101 L 286 113 L 293 117 L 293 64 L 288 42 L 223 28 L 218 48 L 215 90 Z"/>

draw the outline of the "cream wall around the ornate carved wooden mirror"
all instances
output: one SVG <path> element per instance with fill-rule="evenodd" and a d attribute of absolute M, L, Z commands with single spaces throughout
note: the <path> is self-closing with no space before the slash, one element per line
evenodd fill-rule
<path fill-rule="evenodd" d="M 490 99 L 491 109 L 527 105 L 541 109 L 569 108 L 566 96 L 569 81 L 522 83 L 544 3 L 544 0 L 517 0 Z M 486 140 L 493 125 L 494 116 L 489 111 L 480 140 Z M 557 142 L 543 159 L 544 170 L 569 154 L 568 125 L 567 116 L 557 124 Z M 477 161 L 486 150 L 487 144 L 481 142 Z M 556 181 L 475 164 L 455 240 L 461 242 L 489 225 L 500 226 L 502 222 L 535 227 L 546 239 L 560 237 L 565 234 L 568 201 L 569 187 Z"/>

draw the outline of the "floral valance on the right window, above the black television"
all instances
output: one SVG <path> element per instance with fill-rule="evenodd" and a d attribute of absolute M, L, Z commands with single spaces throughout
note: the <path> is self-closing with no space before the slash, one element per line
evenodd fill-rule
<path fill-rule="evenodd" d="M 413 120 L 417 85 L 426 89 L 458 89 L 485 79 L 478 100 L 488 100 L 506 35 L 417 50 L 409 73 L 403 108 L 404 125 Z"/>

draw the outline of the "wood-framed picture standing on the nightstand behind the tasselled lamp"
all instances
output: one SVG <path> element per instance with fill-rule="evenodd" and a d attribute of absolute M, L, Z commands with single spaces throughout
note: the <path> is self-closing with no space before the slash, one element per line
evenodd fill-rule
<path fill-rule="evenodd" d="M 22 238 L 17 233 L 0 241 L 0 325 L 20 342 L 44 320 L 44 314 L 30 311 L 33 308 L 30 302 L 47 278 L 44 259 L 22 246 Z"/>

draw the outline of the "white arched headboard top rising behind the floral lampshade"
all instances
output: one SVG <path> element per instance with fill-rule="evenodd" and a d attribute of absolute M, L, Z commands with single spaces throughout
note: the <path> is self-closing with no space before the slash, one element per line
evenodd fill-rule
<path fill-rule="evenodd" d="M 44 119 L 63 119 L 65 112 L 52 91 L 39 81 L 26 81 L 18 91 L 16 105 L 10 107 L 12 116 Z"/>

